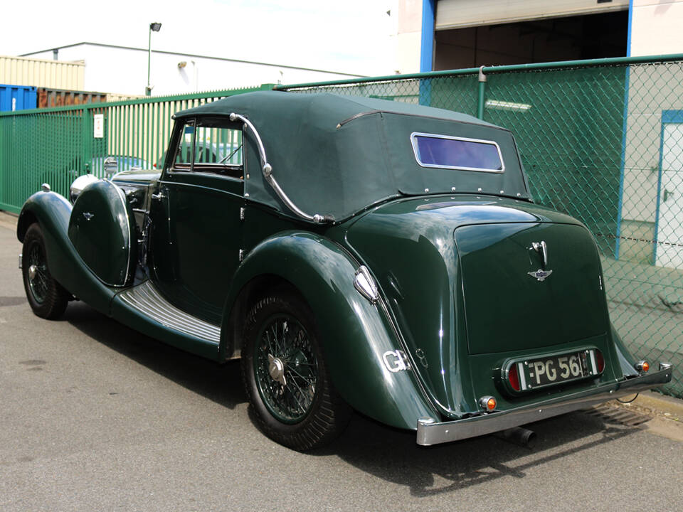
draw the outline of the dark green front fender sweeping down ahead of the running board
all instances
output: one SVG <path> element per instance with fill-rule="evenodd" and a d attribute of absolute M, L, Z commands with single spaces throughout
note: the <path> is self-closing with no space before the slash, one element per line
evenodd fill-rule
<path fill-rule="evenodd" d="M 55 192 L 36 192 L 26 200 L 17 223 L 16 236 L 23 242 L 28 226 L 37 222 L 43 230 L 48 268 L 52 277 L 70 294 L 100 313 L 110 315 L 114 292 L 92 274 L 68 237 L 71 204 Z"/>

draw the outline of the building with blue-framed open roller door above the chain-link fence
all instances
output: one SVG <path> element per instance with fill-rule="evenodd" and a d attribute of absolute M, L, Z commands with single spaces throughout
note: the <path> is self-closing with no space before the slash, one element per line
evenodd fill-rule
<path fill-rule="evenodd" d="M 397 0 L 400 73 L 683 51 L 681 0 Z"/>

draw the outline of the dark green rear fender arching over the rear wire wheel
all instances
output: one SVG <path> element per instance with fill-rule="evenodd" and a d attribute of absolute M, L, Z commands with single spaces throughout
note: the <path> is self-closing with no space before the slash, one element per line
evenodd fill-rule
<path fill-rule="evenodd" d="M 418 418 L 435 417 L 435 410 L 420 393 L 412 370 L 392 372 L 385 365 L 384 354 L 401 346 L 378 306 L 354 288 L 358 266 L 327 238 L 280 233 L 254 247 L 240 265 L 223 318 L 230 318 L 240 292 L 253 279 L 264 274 L 285 279 L 314 313 L 325 363 L 342 398 L 380 422 L 414 430 Z"/>

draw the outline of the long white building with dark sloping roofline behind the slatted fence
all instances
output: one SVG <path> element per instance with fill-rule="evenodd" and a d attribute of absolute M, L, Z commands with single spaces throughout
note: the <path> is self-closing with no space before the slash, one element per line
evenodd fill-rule
<path fill-rule="evenodd" d="M 152 38 L 154 43 L 154 38 Z M 31 55 L 50 58 L 52 50 Z M 83 45 L 60 48 L 60 60 L 85 60 L 84 88 L 88 91 L 144 95 L 147 86 L 147 50 Z M 179 68 L 179 63 L 186 63 Z M 353 78 L 355 75 L 242 63 L 217 58 L 163 53 L 152 49 L 150 84 L 152 95 L 253 87 L 264 83 L 319 82 Z"/>

